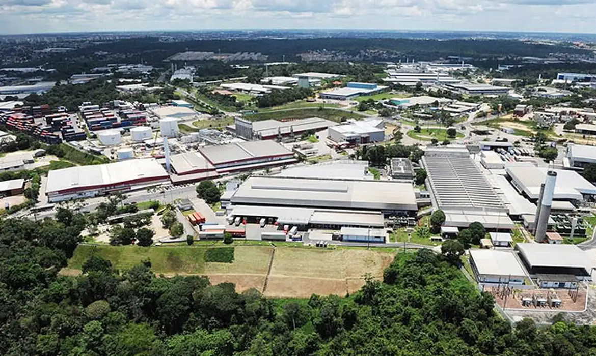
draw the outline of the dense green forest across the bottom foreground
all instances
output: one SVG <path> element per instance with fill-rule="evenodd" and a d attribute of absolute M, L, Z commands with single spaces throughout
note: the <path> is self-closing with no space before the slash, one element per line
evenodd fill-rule
<path fill-rule="evenodd" d="M 383 282 L 345 298 L 267 299 L 157 277 L 150 261 L 117 271 L 97 256 L 82 275 L 60 276 L 84 221 L 70 211 L 0 221 L 0 354 L 596 355 L 596 327 L 512 327 L 492 296 L 427 249 L 396 255 Z"/>

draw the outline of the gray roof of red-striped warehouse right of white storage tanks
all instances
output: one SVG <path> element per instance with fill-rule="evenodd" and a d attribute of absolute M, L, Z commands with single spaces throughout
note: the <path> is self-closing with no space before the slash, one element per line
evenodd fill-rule
<path fill-rule="evenodd" d="M 222 146 L 205 146 L 200 148 L 199 151 L 212 164 L 292 154 L 289 149 L 272 140 L 238 142 Z"/>

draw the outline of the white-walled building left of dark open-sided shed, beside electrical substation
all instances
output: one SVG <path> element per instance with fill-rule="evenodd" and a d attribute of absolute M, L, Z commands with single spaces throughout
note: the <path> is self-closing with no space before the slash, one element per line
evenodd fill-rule
<path fill-rule="evenodd" d="M 523 285 L 526 277 L 513 251 L 471 249 L 470 266 L 480 283 Z"/>

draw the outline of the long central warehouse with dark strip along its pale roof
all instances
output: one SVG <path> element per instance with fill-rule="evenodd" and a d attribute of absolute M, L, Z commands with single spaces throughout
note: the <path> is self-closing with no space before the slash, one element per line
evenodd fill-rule
<path fill-rule="evenodd" d="M 232 205 L 374 210 L 410 216 L 418 211 L 410 183 L 379 180 L 253 176 L 230 201 Z"/>

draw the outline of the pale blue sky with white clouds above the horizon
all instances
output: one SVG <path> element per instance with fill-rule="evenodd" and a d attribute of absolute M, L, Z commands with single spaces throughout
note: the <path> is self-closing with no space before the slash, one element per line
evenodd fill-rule
<path fill-rule="evenodd" d="M 0 0 L 0 33 L 140 30 L 596 32 L 596 0 Z"/>

